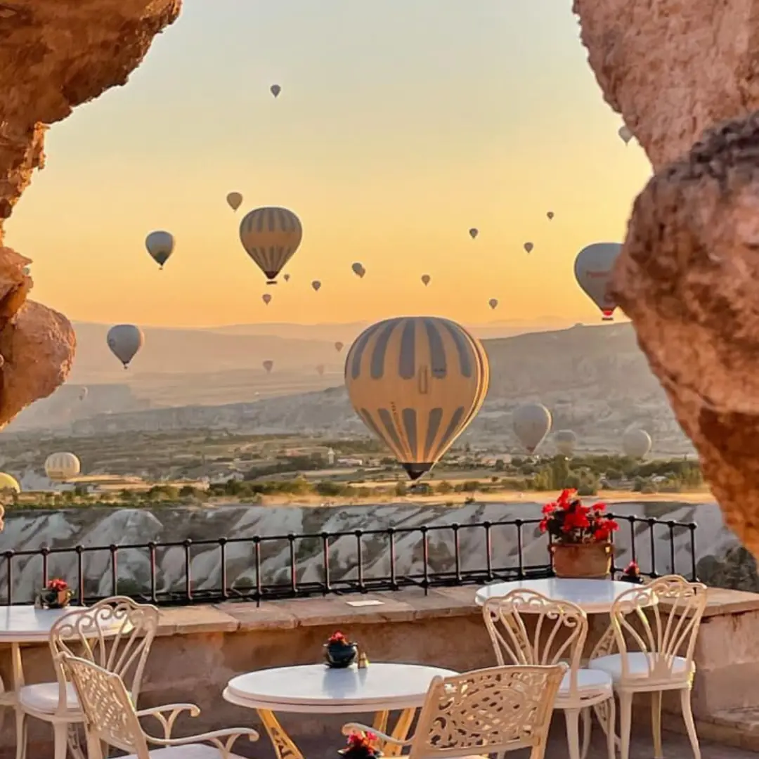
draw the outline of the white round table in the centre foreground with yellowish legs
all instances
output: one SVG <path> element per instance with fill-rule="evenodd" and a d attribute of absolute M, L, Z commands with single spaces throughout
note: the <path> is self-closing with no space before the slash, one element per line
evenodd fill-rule
<path fill-rule="evenodd" d="M 424 704 L 434 677 L 458 672 L 418 664 L 370 663 L 365 669 L 350 666 L 330 669 L 324 664 L 277 667 L 248 672 L 231 679 L 224 689 L 225 701 L 255 709 L 278 759 L 302 759 L 275 711 L 298 714 L 355 714 L 375 712 L 373 727 L 386 732 L 388 713 L 400 710 L 391 735 L 405 740 L 417 708 Z M 398 753 L 384 748 L 386 757 Z"/>

